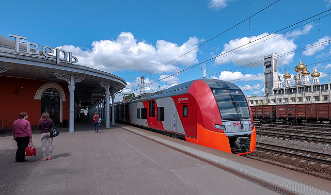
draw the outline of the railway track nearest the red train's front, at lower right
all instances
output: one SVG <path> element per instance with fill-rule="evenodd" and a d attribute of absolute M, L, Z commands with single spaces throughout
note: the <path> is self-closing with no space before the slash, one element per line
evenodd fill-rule
<path fill-rule="evenodd" d="M 264 150 L 276 154 L 282 154 L 294 158 L 299 158 L 302 160 L 308 160 L 312 162 L 319 162 L 319 163 L 331 165 L 331 154 L 320 153 L 320 152 L 304 150 L 304 149 L 297 149 L 293 147 L 260 143 L 260 142 L 257 142 L 256 144 L 257 144 L 256 148 L 259 150 Z"/>

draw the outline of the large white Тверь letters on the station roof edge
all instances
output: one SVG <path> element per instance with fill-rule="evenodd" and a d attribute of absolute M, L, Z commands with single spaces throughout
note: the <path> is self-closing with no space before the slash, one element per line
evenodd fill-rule
<path fill-rule="evenodd" d="M 25 36 L 19 36 L 19 35 L 15 35 L 15 34 L 9 34 L 10 37 L 15 37 L 15 42 L 16 42 L 16 52 L 19 52 L 19 40 L 20 39 L 24 39 L 26 40 L 27 38 Z M 38 50 L 39 46 L 35 43 L 32 42 L 27 42 L 27 54 L 32 54 L 32 55 L 37 55 L 39 54 L 39 50 Z M 53 58 L 52 55 L 50 55 L 50 53 L 54 53 L 54 49 L 51 48 L 50 46 L 44 46 L 41 49 L 41 52 L 43 53 L 44 56 L 48 57 L 48 58 Z M 62 52 L 63 54 L 63 58 L 60 57 L 60 53 Z M 63 49 L 56 49 L 56 63 L 59 64 L 60 60 L 63 61 L 68 61 L 68 57 L 69 57 L 69 62 L 71 63 L 78 63 L 78 58 L 76 58 L 75 56 L 72 55 L 72 52 L 67 52 Z"/>

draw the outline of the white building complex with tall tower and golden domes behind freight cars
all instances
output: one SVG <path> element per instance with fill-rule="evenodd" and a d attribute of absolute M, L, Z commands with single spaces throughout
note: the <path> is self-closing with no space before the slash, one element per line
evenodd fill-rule
<path fill-rule="evenodd" d="M 307 65 L 301 59 L 294 68 L 294 85 L 291 85 L 291 77 L 286 70 L 284 74 L 284 85 L 277 70 L 277 54 L 265 56 L 264 58 L 265 96 L 247 97 L 250 105 L 278 105 L 278 104 L 308 104 L 330 102 L 330 81 L 321 84 L 320 73 L 316 70 L 311 74 Z M 270 62 L 271 61 L 271 62 Z M 271 75 L 271 76 L 270 76 Z M 275 79 L 277 75 L 278 79 Z M 312 82 L 311 82 L 312 81 Z M 270 86 L 272 90 L 270 90 Z"/>

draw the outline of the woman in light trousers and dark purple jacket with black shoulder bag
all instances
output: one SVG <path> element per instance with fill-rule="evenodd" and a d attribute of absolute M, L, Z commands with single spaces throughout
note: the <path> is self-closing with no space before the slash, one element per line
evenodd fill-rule
<path fill-rule="evenodd" d="M 49 113 L 41 114 L 41 118 L 38 123 L 38 129 L 41 130 L 41 150 L 43 151 L 42 161 L 51 160 L 52 151 L 53 151 L 53 138 L 50 137 L 50 128 L 54 126 L 53 121 L 49 118 Z M 48 158 L 46 159 L 46 147 L 48 141 Z"/>

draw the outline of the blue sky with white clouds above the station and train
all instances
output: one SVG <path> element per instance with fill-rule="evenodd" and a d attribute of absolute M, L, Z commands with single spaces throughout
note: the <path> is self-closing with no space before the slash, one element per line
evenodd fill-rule
<path fill-rule="evenodd" d="M 316 67 L 320 82 L 327 83 L 331 0 L 276 1 L 4 1 L 0 34 L 72 51 L 78 64 L 125 79 L 123 93 L 140 94 L 141 76 L 146 92 L 155 92 L 202 78 L 206 67 L 207 78 L 232 81 L 247 96 L 263 96 L 262 60 L 272 52 L 279 56 L 282 80 L 287 68 L 294 84 L 301 53 L 308 70 Z"/>

